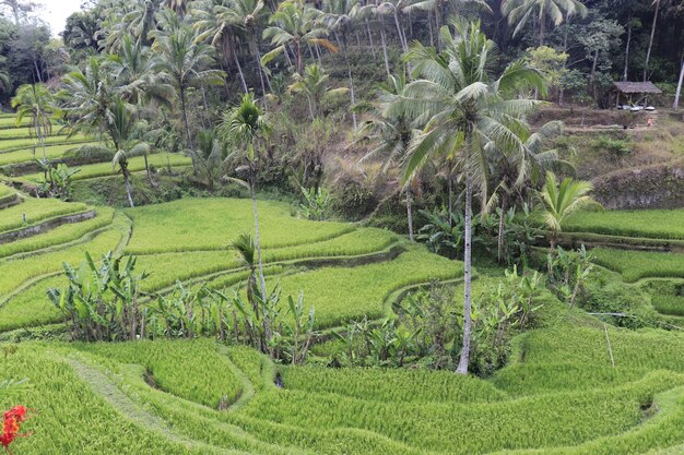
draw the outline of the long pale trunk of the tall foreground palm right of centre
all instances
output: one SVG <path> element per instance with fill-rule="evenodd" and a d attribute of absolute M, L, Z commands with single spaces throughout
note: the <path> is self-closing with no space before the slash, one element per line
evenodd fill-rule
<path fill-rule="evenodd" d="M 467 133 L 465 146 L 471 146 L 470 133 Z M 468 157 L 465 158 L 468 163 Z M 470 364 L 470 338 L 471 338 L 471 255 L 472 255 L 472 176 L 470 169 L 465 169 L 465 226 L 464 226 L 464 254 L 463 254 L 463 346 L 461 358 L 456 372 L 468 374 Z"/>

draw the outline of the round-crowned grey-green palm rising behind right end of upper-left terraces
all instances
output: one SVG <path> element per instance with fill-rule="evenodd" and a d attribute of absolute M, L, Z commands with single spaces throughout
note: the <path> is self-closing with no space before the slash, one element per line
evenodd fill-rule
<path fill-rule="evenodd" d="M 174 20 L 167 15 L 166 21 L 163 28 L 154 33 L 154 69 L 160 73 L 160 80 L 170 84 L 180 98 L 186 139 L 188 146 L 192 148 L 187 107 L 188 89 L 199 85 L 220 84 L 225 73 L 210 68 L 214 60 L 213 49 L 204 43 L 197 43 L 197 33 L 192 28 L 179 23 L 177 17 Z"/>

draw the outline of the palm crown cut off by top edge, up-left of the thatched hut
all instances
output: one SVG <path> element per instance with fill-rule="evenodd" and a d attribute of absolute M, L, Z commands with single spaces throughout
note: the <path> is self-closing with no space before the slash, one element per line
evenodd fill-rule
<path fill-rule="evenodd" d="M 546 21 L 558 26 L 567 17 L 579 14 L 586 17 L 588 10 L 579 0 L 506 0 L 502 3 L 502 13 L 508 17 L 508 25 L 516 25 L 514 36 L 536 14 L 539 21 L 539 45 L 544 45 Z"/>

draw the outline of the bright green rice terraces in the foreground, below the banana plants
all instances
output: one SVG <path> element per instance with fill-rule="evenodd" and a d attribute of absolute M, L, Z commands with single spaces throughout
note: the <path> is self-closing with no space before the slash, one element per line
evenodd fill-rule
<path fill-rule="evenodd" d="M 101 454 L 677 453 L 684 337 L 609 336 L 615 368 L 602 327 L 563 324 L 518 339 L 524 360 L 490 381 L 278 367 L 209 339 L 23 344 L 3 366 L 34 387 L 0 406 L 42 410 L 22 454 L 90 454 L 94 441 Z"/>

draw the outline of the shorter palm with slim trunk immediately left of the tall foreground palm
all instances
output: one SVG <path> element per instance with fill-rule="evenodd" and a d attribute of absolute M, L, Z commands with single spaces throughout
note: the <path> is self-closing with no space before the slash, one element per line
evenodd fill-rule
<path fill-rule="evenodd" d="M 409 119 L 405 112 L 391 109 L 398 97 L 404 95 L 405 87 L 406 77 L 403 74 L 392 75 L 387 84 L 380 85 L 378 115 L 375 119 L 367 121 L 361 130 L 363 140 L 369 140 L 377 144 L 361 160 L 381 158 L 384 161 L 381 168 L 384 175 L 405 159 L 411 140 L 416 133 L 415 122 Z M 412 183 L 415 183 L 415 179 L 400 187 L 400 190 L 403 190 L 406 194 L 406 219 L 410 241 L 413 241 Z"/>

